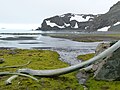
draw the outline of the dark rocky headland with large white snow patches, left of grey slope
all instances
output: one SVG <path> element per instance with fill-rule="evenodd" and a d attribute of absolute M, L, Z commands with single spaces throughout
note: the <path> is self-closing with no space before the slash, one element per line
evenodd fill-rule
<path fill-rule="evenodd" d="M 97 15 L 67 13 L 44 19 L 41 30 L 87 30 Z"/>

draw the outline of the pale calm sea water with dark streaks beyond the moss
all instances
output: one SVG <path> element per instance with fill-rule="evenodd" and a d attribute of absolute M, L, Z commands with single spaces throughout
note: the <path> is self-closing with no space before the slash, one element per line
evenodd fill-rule
<path fill-rule="evenodd" d="M 30 48 L 95 49 L 98 44 L 97 42 L 84 43 L 71 41 L 68 39 L 42 36 L 41 35 L 43 33 L 42 31 L 1 29 L 0 33 L 39 33 L 36 35 L 0 34 L 0 47 L 15 47 L 22 49 Z M 13 38 L 14 40 L 9 38 Z M 25 38 L 25 40 L 23 38 Z"/>

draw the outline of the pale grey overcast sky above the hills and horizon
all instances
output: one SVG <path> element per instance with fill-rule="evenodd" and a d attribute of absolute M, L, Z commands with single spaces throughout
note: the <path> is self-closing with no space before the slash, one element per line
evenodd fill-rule
<path fill-rule="evenodd" d="M 65 13 L 102 14 L 119 0 L 0 0 L 0 23 L 38 24 Z"/>

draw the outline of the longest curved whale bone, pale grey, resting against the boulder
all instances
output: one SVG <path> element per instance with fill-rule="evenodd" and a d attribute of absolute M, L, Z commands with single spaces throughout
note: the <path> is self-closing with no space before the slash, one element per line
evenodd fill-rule
<path fill-rule="evenodd" d="M 66 68 L 53 69 L 53 70 L 19 69 L 18 72 L 28 73 L 28 74 L 31 74 L 31 75 L 38 75 L 38 76 L 55 76 L 55 75 L 66 74 L 66 73 L 69 73 L 69 72 L 84 68 L 84 67 L 86 67 L 88 65 L 91 65 L 95 61 L 97 61 L 99 59 L 102 59 L 102 58 L 108 56 L 109 54 L 113 53 L 119 47 L 120 47 L 120 40 L 117 43 L 115 43 L 113 46 L 108 48 L 107 50 L 105 50 L 102 53 L 100 53 L 99 55 L 89 59 L 88 61 L 79 63 L 77 65 L 73 65 L 73 66 L 70 66 L 70 67 L 66 67 Z"/>

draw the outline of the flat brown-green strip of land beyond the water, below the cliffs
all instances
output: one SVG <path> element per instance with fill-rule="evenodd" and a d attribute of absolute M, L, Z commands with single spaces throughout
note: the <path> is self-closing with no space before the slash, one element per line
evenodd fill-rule
<path fill-rule="evenodd" d="M 98 41 L 114 41 L 120 39 L 120 33 L 111 33 L 111 34 L 46 34 L 53 38 L 64 38 L 70 39 L 78 42 L 98 42 Z"/>

